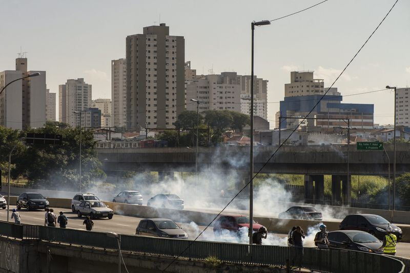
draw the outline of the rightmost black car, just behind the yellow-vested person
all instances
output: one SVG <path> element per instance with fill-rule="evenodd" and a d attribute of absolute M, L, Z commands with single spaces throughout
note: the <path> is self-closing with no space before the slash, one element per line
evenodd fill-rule
<path fill-rule="evenodd" d="M 387 226 L 393 228 L 393 234 L 397 239 L 401 239 L 403 233 L 400 227 L 390 223 L 383 217 L 376 214 L 352 214 L 347 215 L 339 225 L 340 230 L 365 231 L 380 240 L 386 235 Z"/>

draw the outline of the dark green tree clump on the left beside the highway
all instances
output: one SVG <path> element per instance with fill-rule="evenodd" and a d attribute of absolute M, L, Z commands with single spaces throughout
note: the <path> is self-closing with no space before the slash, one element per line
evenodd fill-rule
<path fill-rule="evenodd" d="M 22 132 L 0 127 L 2 169 L 5 170 L 8 154 L 12 146 L 17 143 L 12 154 L 12 179 L 27 178 L 31 186 L 79 188 L 79 128 L 71 128 L 61 122 L 47 122 L 42 128 L 30 128 L 26 132 L 61 134 L 63 141 L 61 145 L 25 145 L 22 141 L 18 141 L 18 138 L 23 136 Z M 81 184 L 87 187 L 92 181 L 104 180 L 106 174 L 100 169 L 101 163 L 94 149 L 93 133 L 83 130 L 81 142 Z"/>

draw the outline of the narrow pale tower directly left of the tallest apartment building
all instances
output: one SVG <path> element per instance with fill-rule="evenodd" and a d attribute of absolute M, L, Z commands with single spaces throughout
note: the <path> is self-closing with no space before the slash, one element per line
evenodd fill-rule
<path fill-rule="evenodd" d="M 111 125 L 127 125 L 127 61 L 126 58 L 111 61 Z"/>

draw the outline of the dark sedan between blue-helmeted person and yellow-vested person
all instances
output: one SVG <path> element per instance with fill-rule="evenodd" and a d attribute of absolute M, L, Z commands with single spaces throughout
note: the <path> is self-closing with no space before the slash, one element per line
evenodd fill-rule
<path fill-rule="evenodd" d="M 332 231 L 327 233 L 329 246 L 354 251 L 382 254 L 382 242 L 364 231 Z"/>

